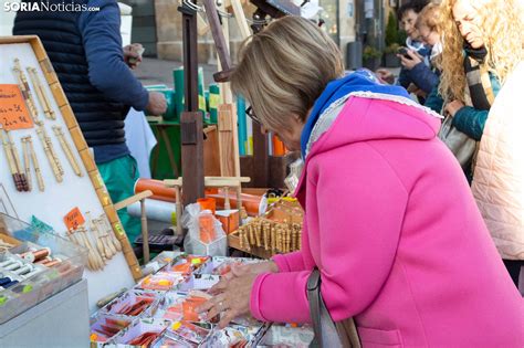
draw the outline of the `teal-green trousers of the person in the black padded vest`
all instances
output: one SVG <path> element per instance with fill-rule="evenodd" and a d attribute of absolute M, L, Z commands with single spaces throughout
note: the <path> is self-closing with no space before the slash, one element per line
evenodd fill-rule
<path fill-rule="evenodd" d="M 135 182 L 139 176 L 136 160 L 130 155 L 98 164 L 97 167 L 113 203 L 135 194 Z M 126 209 L 120 209 L 117 213 L 129 242 L 133 243 L 142 233 L 140 219 L 130 217 Z"/>

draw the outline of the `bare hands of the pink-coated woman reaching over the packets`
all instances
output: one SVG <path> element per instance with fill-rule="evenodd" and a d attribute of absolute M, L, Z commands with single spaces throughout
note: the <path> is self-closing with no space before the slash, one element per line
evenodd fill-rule
<path fill-rule="evenodd" d="M 198 313 L 207 312 L 209 319 L 223 313 L 219 328 L 224 328 L 232 319 L 250 313 L 250 298 L 253 283 L 259 274 L 245 272 L 237 273 L 232 278 L 221 280 L 209 292 L 213 298 L 197 308 Z"/>

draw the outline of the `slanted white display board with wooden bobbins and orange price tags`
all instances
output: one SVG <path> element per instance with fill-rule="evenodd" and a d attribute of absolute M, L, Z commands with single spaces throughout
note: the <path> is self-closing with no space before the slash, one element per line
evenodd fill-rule
<path fill-rule="evenodd" d="M 0 211 L 90 251 L 90 309 L 142 271 L 38 36 L 0 38 Z"/>

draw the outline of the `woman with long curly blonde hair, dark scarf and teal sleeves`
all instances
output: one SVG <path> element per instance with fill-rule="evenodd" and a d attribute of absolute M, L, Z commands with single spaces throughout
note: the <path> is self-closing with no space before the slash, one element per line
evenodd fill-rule
<path fill-rule="evenodd" d="M 489 110 L 501 84 L 522 60 L 522 22 L 515 2 L 443 0 L 442 74 L 426 106 L 450 115 L 470 138 L 482 138 Z M 465 165 L 473 178 L 474 160 Z"/>

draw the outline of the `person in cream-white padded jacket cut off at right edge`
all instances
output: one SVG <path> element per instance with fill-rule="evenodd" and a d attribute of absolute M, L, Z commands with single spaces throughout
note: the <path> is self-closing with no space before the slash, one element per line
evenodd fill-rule
<path fill-rule="evenodd" d="M 521 267 L 524 265 L 522 81 L 524 81 L 524 62 L 521 62 L 510 75 L 491 107 L 480 141 L 471 187 L 516 286 Z M 521 292 L 524 293 L 524 286 L 521 286 Z"/>

